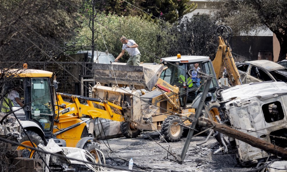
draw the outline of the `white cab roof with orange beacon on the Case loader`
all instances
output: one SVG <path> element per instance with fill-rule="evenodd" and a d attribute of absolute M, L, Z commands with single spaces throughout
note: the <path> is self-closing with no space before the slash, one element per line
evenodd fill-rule
<path fill-rule="evenodd" d="M 209 60 L 207 56 L 191 56 L 191 55 L 182 55 L 180 59 L 177 59 L 177 56 L 165 57 L 160 59 L 160 61 L 169 61 L 169 62 L 180 62 L 180 63 L 195 63 Z"/>

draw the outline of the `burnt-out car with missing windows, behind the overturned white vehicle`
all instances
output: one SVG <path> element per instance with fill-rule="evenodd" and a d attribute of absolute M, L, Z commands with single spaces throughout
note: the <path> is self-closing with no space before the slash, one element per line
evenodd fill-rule
<path fill-rule="evenodd" d="M 263 81 L 287 82 L 286 67 L 269 60 L 244 61 L 236 64 L 243 84 Z"/>

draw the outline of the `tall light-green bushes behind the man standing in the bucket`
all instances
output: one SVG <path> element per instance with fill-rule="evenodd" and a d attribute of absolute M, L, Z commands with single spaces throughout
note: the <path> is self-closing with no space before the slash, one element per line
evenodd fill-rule
<path fill-rule="evenodd" d="M 87 21 L 88 22 L 88 21 Z M 87 22 L 82 23 L 81 30 L 77 42 L 71 42 L 75 46 L 86 47 L 85 50 L 90 50 L 92 37 Z M 144 62 L 159 62 L 155 57 L 167 57 L 168 42 L 175 41 L 174 36 L 170 34 L 171 25 L 168 23 L 153 23 L 141 17 L 123 17 L 118 15 L 101 16 L 99 22 L 96 23 L 98 34 L 95 38 L 96 50 L 108 50 L 115 57 L 122 50 L 122 44 L 119 41 L 121 36 L 128 39 L 133 39 L 139 45 L 141 52 L 141 61 Z M 129 58 L 126 53 L 122 58 L 122 62 L 126 62 Z"/>

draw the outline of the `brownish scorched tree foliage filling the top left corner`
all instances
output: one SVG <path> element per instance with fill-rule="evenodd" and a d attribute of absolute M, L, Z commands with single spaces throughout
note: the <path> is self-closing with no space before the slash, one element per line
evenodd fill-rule
<path fill-rule="evenodd" d="M 71 36 L 79 7 L 80 0 L 1 1 L 1 61 L 47 60 L 45 53 L 55 56 L 59 52 L 55 46 Z M 1 63 L 3 67 L 7 66 Z"/>

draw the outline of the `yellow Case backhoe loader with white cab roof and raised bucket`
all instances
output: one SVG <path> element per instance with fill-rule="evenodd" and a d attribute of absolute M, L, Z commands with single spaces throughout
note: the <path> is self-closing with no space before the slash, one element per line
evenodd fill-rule
<path fill-rule="evenodd" d="M 96 71 L 94 80 L 98 82 L 93 88 L 93 96 L 109 102 L 117 102 L 118 105 L 122 104 L 122 107 L 125 107 L 124 114 L 128 113 L 126 117 L 132 117 L 131 120 L 121 123 L 121 131 L 125 137 L 137 137 L 140 130 L 161 130 L 167 141 L 178 141 L 184 127 L 176 124 L 182 123 L 181 117 L 195 113 L 201 103 L 200 97 L 205 87 L 204 79 L 200 74 L 193 76 L 197 73 L 193 72 L 195 68 L 214 76 L 205 99 L 214 121 L 216 121 L 215 116 L 219 118 L 216 94 L 223 90 L 219 87 L 218 79 L 223 76 L 224 68 L 227 70 L 232 86 L 241 84 L 229 45 L 232 38 L 231 28 L 219 26 L 216 36 L 218 51 L 212 62 L 209 57 L 179 54 L 162 58 L 160 61 L 165 66 L 162 70 L 155 70 L 159 65 L 93 64 L 93 69 Z M 161 73 L 159 74 L 158 71 Z M 158 75 L 160 75 L 159 79 L 155 77 Z M 189 82 L 190 78 L 192 83 Z M 126 87 L 130 90 L 123 89 Z M 139 95 L 136 90 L 140 89 L 149 92 Z M 147 109 L 148 114 L 145 113 Z M 183 123 L 191 124 L 187 121 Z"/>

